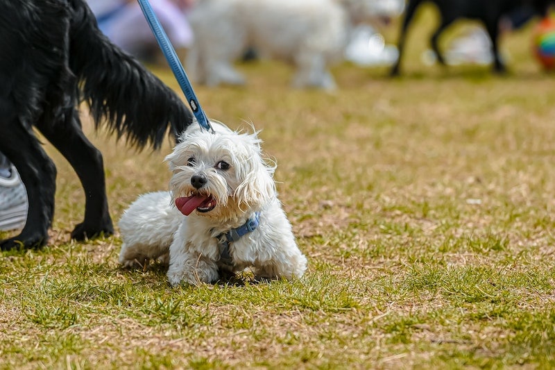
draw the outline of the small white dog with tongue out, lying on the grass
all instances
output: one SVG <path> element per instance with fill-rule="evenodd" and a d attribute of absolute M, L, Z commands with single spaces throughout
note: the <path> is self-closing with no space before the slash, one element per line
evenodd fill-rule
<path fill-rule="evenodd" d="M 263 278 L 300 277 L 307 269 L 275 192 L 257 134 L 212 121 L 191 125 L 166 157 L 171 192 L 144 194 L 119 221 L 124 266 L 169 260 L 171 285 L 211 283 L 219 269 L 253 267 Z"/>

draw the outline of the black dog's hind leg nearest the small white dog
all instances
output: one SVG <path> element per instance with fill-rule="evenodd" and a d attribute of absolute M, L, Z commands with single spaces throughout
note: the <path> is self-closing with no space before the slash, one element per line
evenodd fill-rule
<path fill-rule="evenodd" d="M 112 235 L 114 227 L 108 212 L 102 154 L 83 134 L 78 112 L 68 108 L 62 122 L 37 124 L 37 128 L 74 168 L 85 190 L 85 219 L 74 228 L 71 237 L 84 240 L 101 233 Z"/>

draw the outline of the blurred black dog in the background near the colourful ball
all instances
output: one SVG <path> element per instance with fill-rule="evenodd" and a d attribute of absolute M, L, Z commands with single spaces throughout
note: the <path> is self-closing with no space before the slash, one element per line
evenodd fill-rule
<path fill-rule="evenodd" d="M 494 70 L 501 73 L 505 72 L 505 66 L 499 59 L 498 53 L 499 19 L 503 15 L 524 6 L 533 8 L 538 15 L 545 15 L 548 4 L 546 0 L 409 0 L 399 37 L 399 58 L 391 69 L 391 76 L 398 76 L 400 72 L 401 56 L 404 49 L 405 37 L 407 37 L 407 28 L 418 6 L 425 1 L 435 3 L 441 15 L 440 24 L 431 38 L 432 49 L 436 53 L 438 62 L 445 65 L 445 59 L 438 49 L 438 37 L 445 28 L 450 26 L 456 19 L 476 19 L 483 22 L 484 26 L 486 26 L 486 31 L 492 42 L 492 53 L 495 63 Z"/>

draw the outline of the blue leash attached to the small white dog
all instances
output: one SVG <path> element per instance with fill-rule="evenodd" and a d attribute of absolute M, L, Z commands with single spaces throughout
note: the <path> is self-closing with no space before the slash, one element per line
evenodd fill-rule
<path fill-rule="evenodd" d="M 211 133 L 214 133 L 214 128 L 210 125 L 210 121 L 206 117 L 206 113 L 204 112 L 203 108 L 200 108 L 200 104 L 198 103 L 198 99 L 196 98 L 196 94 L 193 91 L 193 87 L 189 82 L 189 78 L 187 78 L 187 74 L 185 73 L 185 69 L 181 65 L 179 61 L 178 55 L 176 50 L 173 49 L 171 42 L 169 41 L 168 35 L 162 28 L 162 24 L 154 14 L 154 10 L 148 0 L 137 0 L 139 1 L 139 6 L 143 10 L 144 17 L 148 21 L 148 26 L 151 27 L 151 30 L 156 37 L 156 41 L 160 45 L 160 49 L 164 53 L 166 60 L 173 71 L 173 75 L 176 76 L 176 79 L 189 102 L 189 106 L 193 111 L 194 116 L 196 117 L 196 121 L 200 124 L 200 127 L 204 128 Z"/>

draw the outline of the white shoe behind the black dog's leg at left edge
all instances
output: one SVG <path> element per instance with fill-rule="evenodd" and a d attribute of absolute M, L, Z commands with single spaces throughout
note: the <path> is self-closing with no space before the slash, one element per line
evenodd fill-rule
<path fill-rule="evenodd" d="M 27 192 L 15 167 L 9 178 L 0 176 L 0 230 L 23 228 L 27 221 Z"/>

